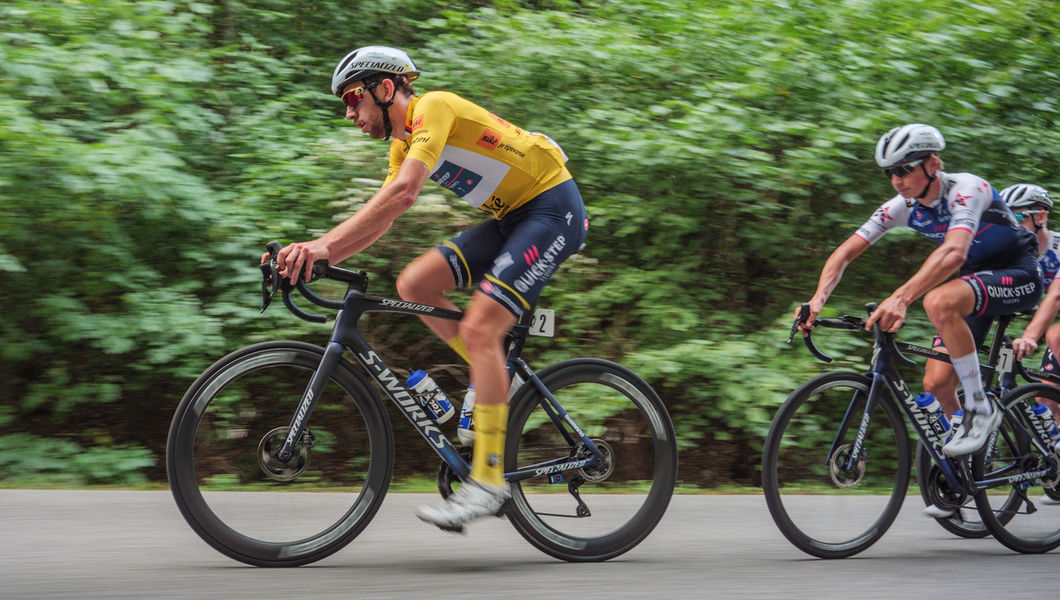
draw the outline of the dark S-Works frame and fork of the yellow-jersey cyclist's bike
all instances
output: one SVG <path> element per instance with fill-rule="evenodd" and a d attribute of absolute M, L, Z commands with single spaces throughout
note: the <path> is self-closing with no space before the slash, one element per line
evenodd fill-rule
<path fill-rule="evenodd" d="M 290 420 L 287 437 L 278 452 L 278 457 L 281 460 L 288 460 L 290 456 L 293 456 L 295 447 L 304 435 L 306 429 L 305 424 L 316 406 L 317 399 L 320 396 L 332 374 L 334 374 L 342 354 L 347 349 L 350 349 L 354 356 L 356 356 L 357 361 L 360 363 L 360 365 L 365 368 L 365 371 L 368 372 L 369 376 L 371 376 L 371 378 L 378 384 L 384 393 L 386 393 L 386 395 L 394 403 L 401 413 L 408 419 L 409 423 L 412 424 L 412 427 L 416 428 L 420 436 L 423 437 L 431 448 L 434 448 L 442 461 L 449 465 L 461 481 L 466 480 L 471 475 L 471 464 L 469 461 L 460 456 L 460 452 L 453 445 L 453 442 L 450 442 L 441 429 L 438 428 L 438 424 L 435 422 L 434 418 L 428 416 L 423 410 L 405 384 L 383 363 L 383 359 L 379 358 L 378 354 L 372 350 L 371 346 L 369 346 L 364 336 L 360 334 L 360 331 L 357 329 L 357 323 L 360 318 L 366 313 L 370 312 L 401 313 L 406 315 L 416 315 L 419 317 L 446 319 L 450 321 L 459 321 L 463 318 L 463 313 L 460 311 L 431 306 L 429 304 L 419 304 L 392 298 L 368 296 L 360 289 L 350 289 L 341 303 L 332 300 L 323 300 L 320 297 L 314 298 L 313 296 L 315 295 L 312 295 L 312 293 L 307 294 L 307 289 L 303 284 L 301 284 L 301 282 L 298 285 L 298 289 L 314 303 L 332 308 L 337 307 L 339 308 L 339 312 L 335 317 L 335 327 L 333 329 L 331 339 L 324 348 L 323 358 L 320 361 L 320 366 L 317 367 L 316 371 L 314 371 L 312 377 L 310 378 L 310 383 L 306 386 L 305 392 L 302 394 L 302 399 L 298 403 L 295 414 Z M 323 300 L 323 302 L 321 302 L 321 300 Z M 294 308 L 287 301 L 286 296 L 284 297 L 284 302 L 287 304 L 288 308 L 292 308 L 293 312 L 297 311 L 297 308 Z M 298 312 L 296 312 L 296 314 L 298 314 Z M 560 471 L 579 470 L 586 466 L 593 466 L 604 461 L 604 456 L 600 449 L 593 443 L 581 427 L 578 426 L 573 418 L 567 413 L 551 392 L 549 392 L 545 384 L 537 377 L 536 374 L 534 374 L 526 361 L 519 357 L 523 351 L 523 346 L 529 335 L 529 323 L 531 318 L 532 314 L 529 312 L 526 313 L 524 317 L 519 319 L 519 322 L 517 322 L 512 329 L 512 339 L 509 345 L 507 356 L 509 373 L 513 376 L 519 376 L 523 382 L 529 382 L 537 389 L 538 392 L 541 392 L 542 407 L 552 423 L 563 434 L 566 441 L 572 448 L 576 447 L 579 442 L 584 444 L 585 448 L 589 451 L 590 456 L 577 460 L 575 460 L 572 456 L 559 458 L 518 469 L 514 472 L 505 474 L 505 478 L 508 481 L 522 481 L 532 477 L 551 475 Z M 569 430 L 564 426 L 564 424 L 569 426 Z"/>

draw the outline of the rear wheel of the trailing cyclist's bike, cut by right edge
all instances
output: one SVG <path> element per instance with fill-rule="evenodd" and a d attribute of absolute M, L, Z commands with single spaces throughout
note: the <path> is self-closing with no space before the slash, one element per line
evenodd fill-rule
<path fill-rule="evenodd" d="M 1007 449 L 1011 455 L 977 453 L 972 458 L 972 473 L 976 480 L 987 479 L 990 473 L 1034 473 L 1050 462 L 1057 464 L 1055 452 L 1042 454 L 1029 441 L 1029 437 L 1036 434 L 1027 430 L 1023 418 L 1030 416 L 1029 406 L 1036 398 L 1060 400 L 1060 389 L 1048 384 L 1026 384 L 1002 399 L 1005 417 L 999 440 L 1004 439 L 1005 443 L 999 442 L 995 447 Z M 983 523 L 994 539 L 1021 553 L 1047 552 L 1060 546 L 1060 507 L 1036 506 L 1035 502 L 1040 494 L 1057 489 L 1058 478 L 1060 476 L 1054 475 L 1049 481 L 1035 479 L 1013 483 L 1011 489 L 1019 494 L 1018 506 L 1014 507 L 1000 504 L 996 492 L 979 491 L 975 495 L 975 504 Z M 1009 517 L 1007 522 L 1005 516 Z"/>

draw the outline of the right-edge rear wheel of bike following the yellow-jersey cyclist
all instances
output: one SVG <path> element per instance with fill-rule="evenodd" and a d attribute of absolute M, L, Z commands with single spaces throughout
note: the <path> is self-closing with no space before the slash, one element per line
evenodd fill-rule
<path fill-rule="evenodd" d="M 1060 546 L 1060 506 L 1043 501 L 1054 497 L 1060 486 L 1060 457 L 1048 449 L 1048 437 L 1036 430 L 1031 406 L 1040 398 L 1060 401 L 1060 388 L 1028 384 L 1002 399 L 1005 413 L 993 443 L 972 459 L 976 481 L 1013 478 L 980 491 L 975 504 L 993 536 L 1023 553 L 1047 552 Z M 1036 438 L 1043 447 L 1032 442 Z"/>

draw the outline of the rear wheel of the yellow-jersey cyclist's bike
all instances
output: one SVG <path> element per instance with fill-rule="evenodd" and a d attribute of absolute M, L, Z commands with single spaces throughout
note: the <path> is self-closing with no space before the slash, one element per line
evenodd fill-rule
<path fill-rule="evenodd" d="M 608 465 L 550 474 L 512 483 L 509 520 L 531 545 L 568 562 L 606 561 L 633 549 L 662 518 L 677 481 L 673 423 L 658 394 L 629 369 L 597 358 L 564 360 L 538 378 L 579 427 L 610 456 Z M 570 455 L 544 416 L 543 395 L 525 384 L 512 399 L 506 471 Z M 578 489 L 590 515 L 578 517 L 575 498 L 555 491 L 555 479 Z M 647 493 L 639 494 L 647 489 Z M 566 511 L 566 512 L 558 512 Z M 560 516 L 563 514 L 564 516 Z"/>

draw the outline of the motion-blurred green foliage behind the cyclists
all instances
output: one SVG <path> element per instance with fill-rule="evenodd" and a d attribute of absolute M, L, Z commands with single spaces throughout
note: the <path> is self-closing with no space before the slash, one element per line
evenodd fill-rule
<path fill-rule="evenodd" d="M 782 341 L 824 259 L 891 194 L 871 160 L 883 131 L 931 123 L 951 171 L 1058 188 L 1048 2 L 8 0 L 0 20 L 0 479 L 160 480 L 170 416 L 211 360 L 324 340 L 258 315 L 255 265 L 383 179 L 385 145 L 329 93 L 357 46 L 406 48 L 419 91 L 563 145 L 588 247 L 542 300 L 560 336 L 528 355 L 640 371 L 691 483 L 754 482 L 776 406 L 823 370 Z M 478 218 L 428 187 L 348 266 L 388 294 Z M 881 300 L 930 248 L 888 235 L 833 304 Z M 908 336 L 926 341 L 919 320 Z M 369 336 L 398 368 L 456 361 L 412 319 L 373 318 Z M 863 338 L 822 343 L 865 359 Z M 399 428 L 400 465 L 429 472 Z"/>

